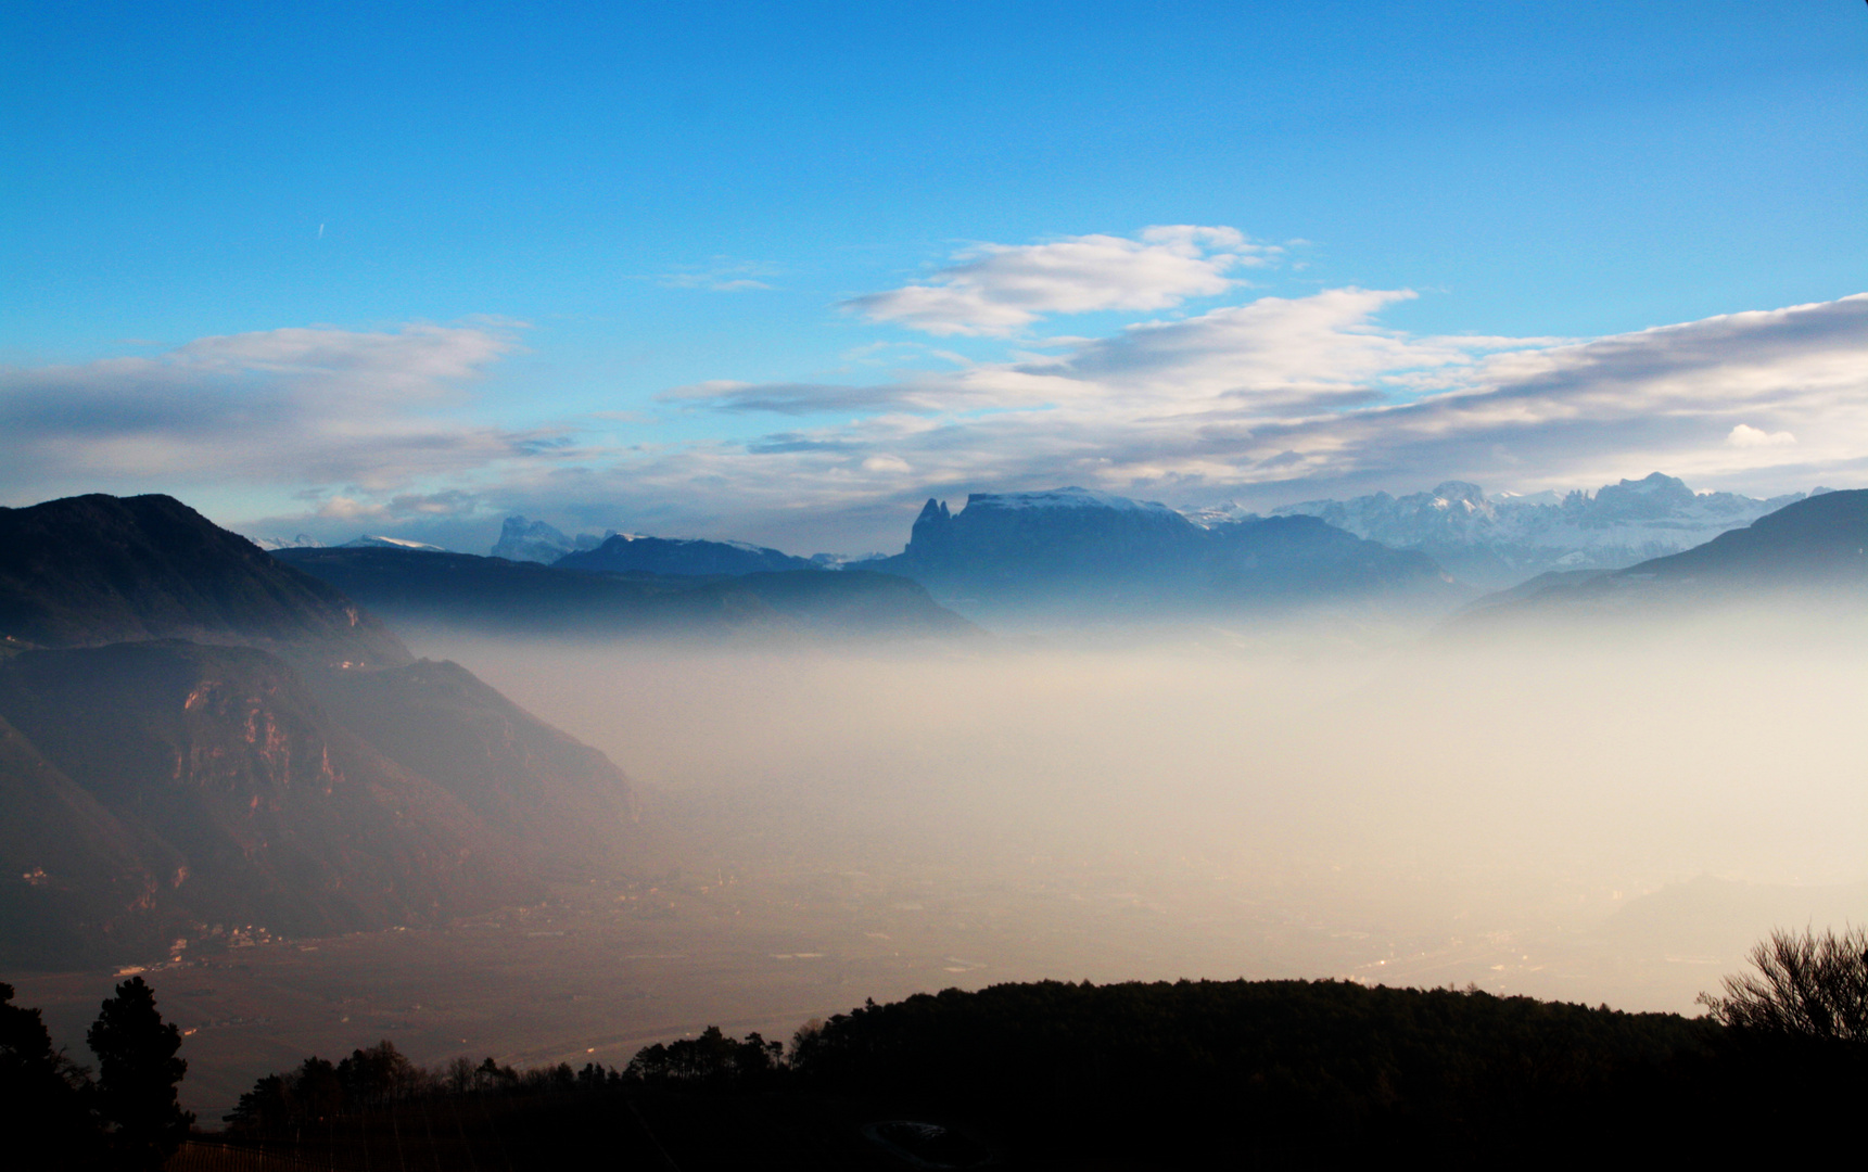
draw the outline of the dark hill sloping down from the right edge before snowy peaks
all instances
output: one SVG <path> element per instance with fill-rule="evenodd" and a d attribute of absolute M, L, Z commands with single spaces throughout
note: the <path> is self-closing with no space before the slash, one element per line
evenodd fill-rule
<path fill-rule="evenodd" d="M 1745 603 L 1868 603 L 1868 489 L 1808 496 L 1705 545 L 1627 569 L 1539 575 L 1476 601 L 1450 631 L 1653 620 Z"/>

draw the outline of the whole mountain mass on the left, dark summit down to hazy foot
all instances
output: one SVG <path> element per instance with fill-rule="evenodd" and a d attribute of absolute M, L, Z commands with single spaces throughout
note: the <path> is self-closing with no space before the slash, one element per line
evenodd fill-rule
<path fill-rule="evenodd" d="M 0 963 L 433 924 L 630 853 L 603 754 L 179 502 L 0 524 Z"/>

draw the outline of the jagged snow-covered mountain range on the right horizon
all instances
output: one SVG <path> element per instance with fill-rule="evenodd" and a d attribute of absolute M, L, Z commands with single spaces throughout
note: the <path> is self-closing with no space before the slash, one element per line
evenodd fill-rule
<path fill-rule="evenodd" d="M 1476 483 L 1450 480 L 1431 493 L 1306 500 L 1272 515 L 1321 517 L 1358 537 L 1418 549 L 1461 580 L 1502 588 L 1550 569 L 1621 569 L 1679 552 L 1803 496 L 1694 493 L 1685 481 L 1653 472 L 1603 485 L 1593 496 L 1582 491 L 1487 496 Z M 1242 511 L 1214 506 L 1188 515 L 1212 524 Z"/>

